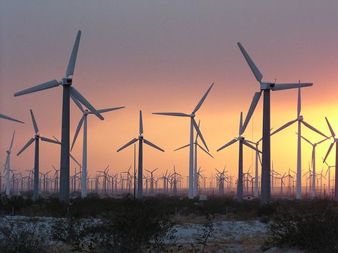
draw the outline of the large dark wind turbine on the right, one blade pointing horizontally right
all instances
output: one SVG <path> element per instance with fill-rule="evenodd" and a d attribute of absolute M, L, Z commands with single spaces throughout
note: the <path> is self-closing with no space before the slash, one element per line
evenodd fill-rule
<path fill-rule="evenodd" d="M 244 132 L 247 124 L 250 121 L 252 113 L 254 112 L 258 101 L 260 100 L 260 95 L 264 93 L 263 101 L 263 128 L 262 128 L 262 179 L 261 179 L 261 198 L 260 202 L 262 205 L 267 204 L 271 200 L 271 189 L 270 189 L 270 91 L 281 91 L 291 88 L 300 88 L 306 86 L 312 86 L 312 83 L 276 83 L 270 81 L 262 81 L 263 75 L 260 73 L 260 70 L 257 68 L 255 63 L 250 58 L 249 54 L 243 46 L 238 42 L 237 45 L 240 47 L 245 61 L 250 66 L 252 73 L 254 74 L 258 83 L 260 83 L 260 91 L 256 92 L 252 103 L 250 105 L 249 112 L 247 113 L 247 118 L 243 125 Z"/>

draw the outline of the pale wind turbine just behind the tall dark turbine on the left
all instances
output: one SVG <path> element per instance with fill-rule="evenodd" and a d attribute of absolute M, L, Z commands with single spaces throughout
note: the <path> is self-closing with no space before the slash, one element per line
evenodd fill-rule
<path fill-rule="evenodd" d="M 91 111 L 89 110 L 85 110 L 83 109 L 81 103 L 73 97 L 73 95 L 71 95 L 71 98 L 73 99 L 74 103 L 76 103 L 76 105 L 78 105 L 78 108 L 81 110 L 81 112 L 83 113 L 80 121 L 78 122 L 78 127 L 76 128 L 76 132 L 73 138 L 73 143 L 71 144 L 71 150 L 73 150 L 74 144 L 76 142 L 76 138 L 78 137 L 78 133 L 81 130 L 81 127 L 83 125 L 83 146 L 82 146 L 82 173 L 83 173 L 83 177 L 81 177 L 81 197 L 87 197 L 87 184 L 86 184 L 86 180 L 87 180 L 87 116 L 90 114 L 93 114 Z M 101 110 L 97 110 L 98 113 L 106 113 L 112 110 L 118 110 L 118 109 L 122 109 L 125 108 L 125 106 L 122 107 L 116 107 L 116 108 L 106 108 L 106 109 L 101 109 Z"/>

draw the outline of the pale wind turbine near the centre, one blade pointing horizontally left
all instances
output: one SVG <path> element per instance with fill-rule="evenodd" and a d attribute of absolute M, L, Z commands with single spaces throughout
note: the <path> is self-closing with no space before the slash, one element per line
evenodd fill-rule
<path fill-rule="evenodd" d="M 205 98 L 207 98 L 207 95 L 209 94 L 212 86 L 208 88 L 208 91 L 203 95 L 201 98 L 200 102 L 196 105 L 195 109 L 193 110 L 192 113 L 186 114 L 186 113 L 153 113 L 153 114 L 158 114 L 158 115 L 168 115 L 168 116 L 176 116 L 176 117 L 187 117 L 190 118 L 190 144 L 189 144 L 189 192 L 188 192 L 188 197 L 192 199 L 194 197 L 194 163 L 193 163 L 193 156 L 194 156 L 194 128 L 197 132 L 198 135 L 200 135 L 200 139 L 203 141 L 203 144 L 205 145 L 205 148 L 208 149 L 207 143 L 205 143 L 205 140 L 203 138 L 202 133 L 200 133 L 200 128 L 198 128 L 198 124 L 195 121 L 195 113 L 200 109 L 200 106 L 203 104 Z"/>

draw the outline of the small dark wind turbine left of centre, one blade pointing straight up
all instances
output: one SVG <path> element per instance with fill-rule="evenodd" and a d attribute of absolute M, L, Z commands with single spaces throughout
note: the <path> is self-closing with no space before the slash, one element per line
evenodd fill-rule
<path fill-rule="evenodd" d="M 126 145 L 123 145 L 121 148 L 119 148 L 117 152 L 123 150 L 124 148 L 127 148 L 128 146 L 138 141 L 138 195 L 137 197 L 138 199 L 141 199 L 143 195 L 143 143 L 157 150 L 160 150 L 162 152 L 164 152 L 164 150 L 162 148 L 159 148 L 157 145 L 150 143 L 149 140 L 145 140 L 145 138 L 143 137 L 142 110 L 140 110 L 140 125 L 139 126 L 140 126 L 140 129 L 139 129 L 138 138 L 133 138 L 133 140 L 130 140 L 130 142 L 128 142 Z"/>

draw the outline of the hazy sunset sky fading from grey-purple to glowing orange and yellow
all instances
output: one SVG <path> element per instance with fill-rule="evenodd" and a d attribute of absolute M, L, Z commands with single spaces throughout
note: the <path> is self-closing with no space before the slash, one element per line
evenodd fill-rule
<path fill-rule="evenodd" d="M 338 133 L 338 1 L 1 1 L 0 113 L 26 122 L 0 120 L 0 161 L 13 130 L 16 138 L 11 167 L 34 167 L 34 145 L 16 153 L 34 137 L 29 109 L 34 110 L 42 136 L 61 137 L 62 88 L 14 98 L 16 91 L 52 79 L 60 80 L 78 30 L 82 31 L 73 85 L 97 109 L 126 106 L 88 117 L 88 170 L 93 175 L 110 165 L 112 172 L 133 164 L 133 147 L 116 150 L 138 136 L 138 111 L 143 110 L 146 146 L 144 167 L 188 175 L 189 119 L 153 112 L 191 113 L 212 82 L 215 85 L 197 113 L 210 148 L 198 153 L 198 166 L 211 175 L 227 165 L 237 175 L 238 145 L 217 153 L 237 137 L 259 85 L 237 47 L 240 41 L 264 75 L 263 80 L 312 82 L 302 90 L 302 115 L 329 135 L 327 116 Z M 297 118 L 297 90 L 271 95 L 271 125 L 275 129 Z M 71 140 L 81 112 L 71 103 Z M 272 137 L 275 170 L 297 165 L 297 123 Z M 312 141 L 322 138 L 302 128 Z M 262 135 L 262 98 L 245 132 L 248 140 Z M 73 155 L 81 162 L 81 131 Z M 317 170 L 329 143 L 317 148 Z M 60 148 L 42 143 L 41 171 L 60 163 Z M 254 152 L 245 149 L 245 170 Z M 302 167 L 308 168 L 311 146 L 302 142 Z M 333 150 L 332 150 L 333 151 Z M 334 152 L 328 162 L 333 165 Z M 75 164 L 71 162 L 71 171 Z M 326 170 L 326 167 L 325 167 Z M 2 170 L 1 170 L 2 171 Z"/>

